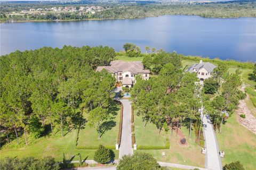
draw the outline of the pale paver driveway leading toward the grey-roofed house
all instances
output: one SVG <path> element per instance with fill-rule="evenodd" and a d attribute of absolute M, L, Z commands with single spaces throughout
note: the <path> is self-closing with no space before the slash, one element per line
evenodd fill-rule
<path fill-rule="evenodd" d="M 203 118 L 203 124 L 204 124 L 203 133 L 204 133 L 205 148 L 206 148 L 205 168 L 211 169 L 211 170 L 221 170 L 222 164 L 221 164 L 221 159 L 219 155 L 219 146 L 217 143 L 217 138 L 213 130 L 211 120 L 209 119 L 209 116 L 207 115 L 203 116 L 203 111 L 201 111 L 201 119 L 202 118 Z"/>

